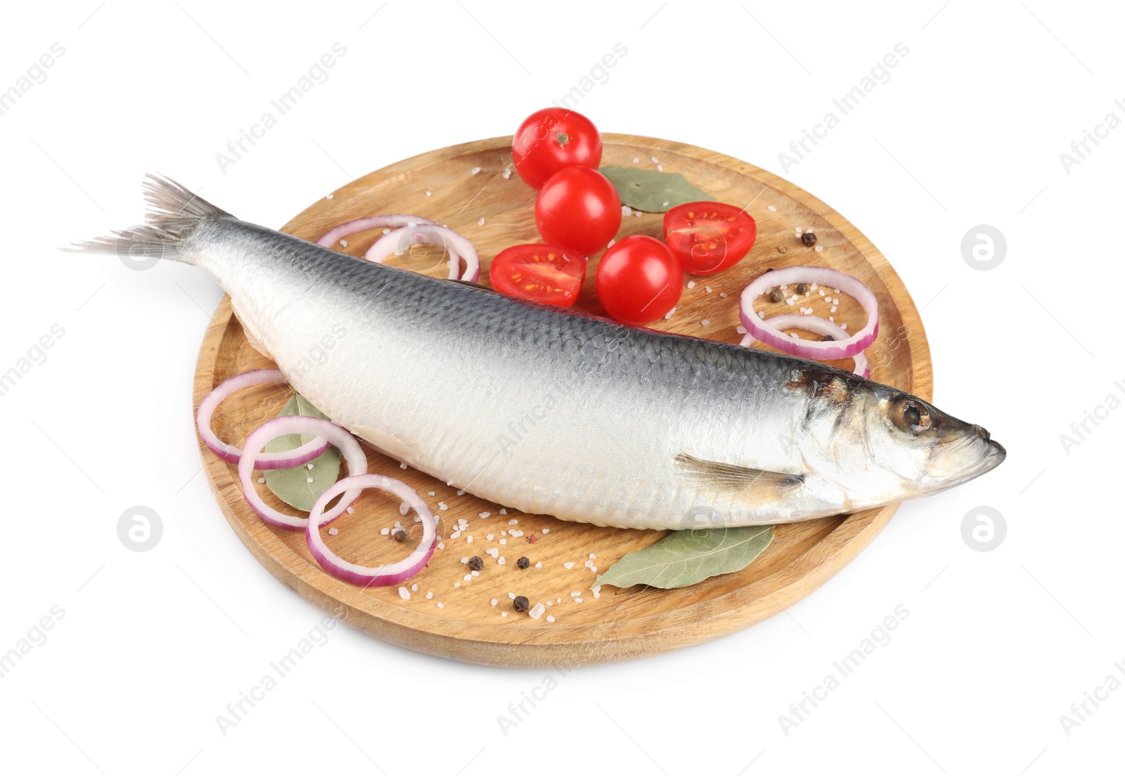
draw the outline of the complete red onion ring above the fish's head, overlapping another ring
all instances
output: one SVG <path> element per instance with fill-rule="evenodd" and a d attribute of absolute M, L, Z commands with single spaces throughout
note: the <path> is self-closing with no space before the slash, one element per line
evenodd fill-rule
<path fill-rule="evenodd" d="M 862 329 L 843 341 L 800 341 L 781 332 L 780 328 L 767 324 L 758 316 L 754 309 L 754 300 L 774 287 L 791 283 L 818 283 L 821 287 L 839 289 L 842 292 L 852 296 L 867 311 L 867 324 Z M 738 306 L 738 316 L 742 320 L 742 326 L 747 333 L 763 343 L 768 343 L 775 349 L 784 351 L 807 360 L 842 360 L 846 356 L 854 356 L 875 341 L 879 335 L 879 301 L 867 287 L 847 273 L 830 268 L 806 268 L 795 265 L 771 270 L 762 273 L 742 290 L 742 296 Z M 774 320 L 777 317 L 773 317 Z"/>

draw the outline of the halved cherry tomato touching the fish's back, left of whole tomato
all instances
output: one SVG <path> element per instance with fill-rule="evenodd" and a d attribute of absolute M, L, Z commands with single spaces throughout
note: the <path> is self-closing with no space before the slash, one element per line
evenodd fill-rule
<path fill-rule="evenodd" d="M 586 280 L 586 257 L 542 243 L 511 246 L 493 257 L 488 280 L 505 295 L 569 308 Z"/>

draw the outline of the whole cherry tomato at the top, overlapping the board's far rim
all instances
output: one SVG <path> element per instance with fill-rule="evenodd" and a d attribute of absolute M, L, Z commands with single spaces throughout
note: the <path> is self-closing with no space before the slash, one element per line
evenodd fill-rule
<path fill-rule="evenodd" d="M 564 168 L 593 168 L 602 161 L 602 136 L 590 119 L 565 108 L 543 108 L 520 125 L 512 138 L 515 172 L 539 189 Z"/>

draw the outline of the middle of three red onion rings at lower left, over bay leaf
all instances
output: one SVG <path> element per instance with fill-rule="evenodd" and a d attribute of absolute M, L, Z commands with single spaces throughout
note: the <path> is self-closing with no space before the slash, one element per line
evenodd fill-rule
<path fill-rule="evenodd" d="M 242 481 L 242 494 L 253 508 L 254 513 L 258 514 L 263 522 L 267 524 L 272 524 L 276 527 L 282 527 L 285 530 L 304 530 L 308 525 L 307 518 L 302 518 L 300 516 L 290 516 L 284 514 L 280 510 L 274 510 L 270 506 L 262 501 L 261 496 L 258 494 L 258 489 L 254 487 L 251 474 L 254 471 L 254 458 L 258 453 L 266 447 L 266 444 L 272 441 L 278 435 L 318 435 L 321 437 L 327 438 L 331 443 L 334 443 L 340 452 L 344 455 L 344 460 L 348 462 L 348 472 L 350 473 L 366 473 L 367 472 L 367 455 L 360 447 L 359 443 L 356 441 L 351 434 L 348 433 L 343 427 L 336 426 L 332 422 L 325 422 L 323 418 L 315 418 L 313 416 L 278 416 L 272 418 L 262 426 L 250 433 L 250 437 L 246 438 L 246 447 L 242 452 L 242 458 L 238 460 L 238 480 Z M 343 479 L 348 480 L 348 479 Z M 328 491 L 335 489 L 336 486 L 343 481 L 336 481 L 336 483 L 328 488 Z M 327 494 L 327 491 L 325 492 Z M 340 494 L 339 491 L 333 492 L 333 496 Z M 317 517 L 321 524 L 327 524 L 332 519 L 336 518 L 342 514 L 352 501 L 359 497 L 360 489 L 350 489 L 340 498 L 340 503 L 336 504 L 332 510 L 321 515 L 324 510 L 324 505 L 327 500 L 317 501 L 313 507 L 317 505 L 321 506 L 321 510 L 317 512 Z M 323 495 L 322 495 L 323 497 Z"/>

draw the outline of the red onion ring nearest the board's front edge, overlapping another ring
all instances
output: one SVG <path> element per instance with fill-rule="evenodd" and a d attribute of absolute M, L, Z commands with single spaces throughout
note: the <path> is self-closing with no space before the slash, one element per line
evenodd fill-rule
<path fill-rule="evenodd" d="M 358 491 L 359 489 L 370 488 L 382 489 L 398 497 L 406 505 L 414 508 L 418 516 L 422 517 L 422 541 L 418 543 L 417 549 L 406 559 L 392 564 L 380 564 L 377 568 L 368 568 L 354 562 L 348 562 L 334 554 L 321 537 L 320 525 L 323 522 L 318 521 L 324 506 L 340 492 L 348 489 L 346 495 L 350 495 L 352 494 L 351 490 Z M 308 514 L 308 524 L 305 527 L 305 541 L 308 543 L 308 550 L 316 558 L 316 561 L 321 563 L 321 567 L 341 580 L 362 587 L 402 584 L 422 570 L 425 563 L 430 561 L 436 540 L 436 522 L 434 522 L 433 514 L 430 513 L 429 506 L 418 497 L 418 494 L 402 481 L 377 473 L 349 476 L 333 483 L 321 495 L 316 504 L 313 505 L 313 510 Z"/>

